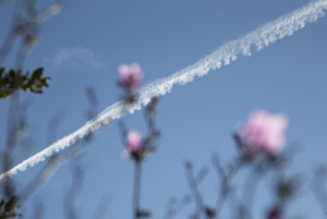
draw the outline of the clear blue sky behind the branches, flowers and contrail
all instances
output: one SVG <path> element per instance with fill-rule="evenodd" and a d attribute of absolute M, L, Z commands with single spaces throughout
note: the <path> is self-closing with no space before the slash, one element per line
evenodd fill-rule
<path fill-rule="evenodd" d="M 145 83 L 168 76 L 211 53 L 228 40 L 237 39 L 278 16 L 304 5 L 307 0 L 93 0 L 65 1 L 62 12 L 41 27 L 41 41 L 26 62 L 26 69 L 45 66 L 50 88 L 43 95 L 23 95 L 32 101 L 27 111 L 34 147 L 17 156 L 19 163 L 49 145 L 50 118 L 62 110 L 57 138 L 86 122 L 88 102 L 85 90 L 96 87 L 101 111 L 119 100 L 117 68 L 121 63 L 142 65 Z M 44 9 L 50 1 L 39 2 Z M 0 7 L 1 44 L 9 31 L 13 1 Z M 211 71 L 185 86 L 174 86 L 160 98 L 157 125 L 162 132 L 159 147 L 144 167 L 141 205 L 164 218 L 167 200 L 189 194 L 183 161 L 192 160 L 196 170 L 210 168 L 201 192 L 208 205 L 218 194 L 218 175 L 210 156 L 217 153 L 227 167 L 237 156 L 231 137 L 235 125 L 253 109 L 282 112 L 289 117 L 288 145 L 299 144 L 290 173 L 306 177 L 288 216 L 323 218 L 310 192 L 314 168 L 326 163 L 327 132 L 327 17 L 307 24 L 291 37 L 240 57 L 230 65 Z M 17 47 L 19 48 L 19 45 Z M 12 52 L 7 66 L 13 66 Z M 0 101 L 1 145 L 9 102 Z M 143 111 L 124 118 L 129 129 L 146 133 Z M 117 123 L 100 132 L 82 155 L 86 179 L 76 203 L 78 218 L 92 218 L 98 200 L 109 197 L 106 218 L 131 218 L 133 165 L 122 160 L 123 145 Z M 22 191 L 45 163 L 14 177 Z M 70 163 L 61 167 L 22 210 L 26 218 L 38 200 L 45 218 L 63 218 L 63 196 L 71 185 Z M 238 182 L 242 181 L 242 175 Z M 240 184 L 241 185 L 241 184 Z M 242 190 L 242 186 L 239 187 Z M 267 191 L 267 192 L 265 192 Z M 272 203 L 269 179 L 259 184 L 254 204 L 255 219 Z M 192 204 L 193 205 L 193 204 Z M 178 218 L 193 212 L 192 205 Z M 327 211 L 327 206 L 326 206 Z M 227 206 L 222 215 L 230 217 Z"/>

